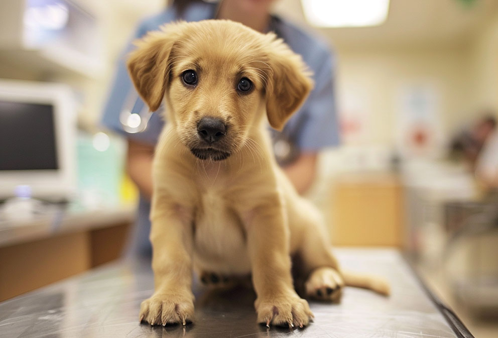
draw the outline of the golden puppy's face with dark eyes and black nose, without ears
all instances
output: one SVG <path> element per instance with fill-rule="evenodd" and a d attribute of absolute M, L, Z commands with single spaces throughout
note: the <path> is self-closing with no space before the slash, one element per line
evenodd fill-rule
<path fill-rule="evenodd" d="M 254 58 L 250 36 L 238 43 L 229 36 L 186 34 L 170 54 L 169 117 L 182 143 L 202 160 L 237 151 L 264 111 L 269 70 L 261 56 Z"/>

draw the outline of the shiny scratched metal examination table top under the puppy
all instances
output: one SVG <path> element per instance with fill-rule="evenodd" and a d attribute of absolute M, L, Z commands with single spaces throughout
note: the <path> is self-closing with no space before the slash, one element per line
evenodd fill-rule
<path fill-rule="evenodd" d="M 194 285 L 196 322 L 183 327 L 140 324 L 140 303 L 153 289 L 149 263 L 119 262 L 0 303 L 0 336 L 22 337 L 458 337 L 402 256 L 394 250 L 336 249 L 349 270 L 392 283 L 389 298 L 347 287 L 340 304 L 310 302 L 304 329 L 256 323 L 255 294 Z M 470 336 L 470 335 L 468 335 Z"/>

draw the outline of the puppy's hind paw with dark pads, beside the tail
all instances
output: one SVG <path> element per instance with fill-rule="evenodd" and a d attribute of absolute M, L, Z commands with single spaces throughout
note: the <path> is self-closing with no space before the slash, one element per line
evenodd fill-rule
<path fill-rule="evenodd" d="M 315 269 L 306 281 L 306 296 L 322 301 L 339 301 L 344 280 L 337 270 L 329 267 Z"/>

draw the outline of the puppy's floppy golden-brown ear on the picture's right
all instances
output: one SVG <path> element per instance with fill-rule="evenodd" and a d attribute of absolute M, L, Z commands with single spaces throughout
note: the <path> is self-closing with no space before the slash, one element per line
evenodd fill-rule
<path fill-rule="evenodd" d="M 312 73 L 301 56 L 294 53 L 282 39 L 275 39 L 273 33 L 267 36 L 273 40 L 268 53 L 268 64 L 273 75 L 268 81 L 266 110 L 270 125 L 282 130 L 313 88 Z"/>

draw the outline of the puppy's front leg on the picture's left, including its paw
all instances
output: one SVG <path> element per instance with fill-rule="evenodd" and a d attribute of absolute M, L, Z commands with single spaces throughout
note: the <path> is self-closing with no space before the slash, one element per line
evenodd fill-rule
<path fill-rule="evenodd" d="M 151 212 L 154 294 L 142 302 L 140 321 L 186 324 L 194 317 L 192 215 L 166 198 L 153 198 Z"/>

